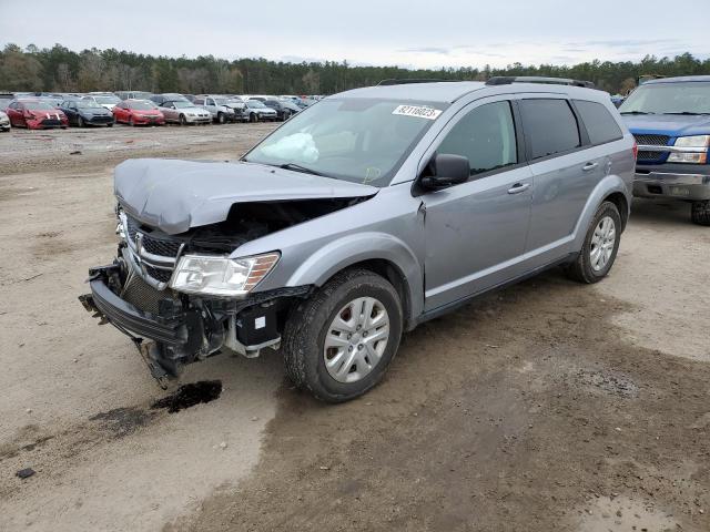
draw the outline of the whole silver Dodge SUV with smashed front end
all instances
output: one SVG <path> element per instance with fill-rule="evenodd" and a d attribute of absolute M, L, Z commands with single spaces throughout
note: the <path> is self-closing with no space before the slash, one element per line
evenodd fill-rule
<path fill-rule="evenodd" d="M 126 161 L 118 257 L 80 299 L 163 383 L 268 347 L 297 387 L 357 397 L 423 321 L 554 266 L 609 273 L 636 145 L 584 84 L 390 82 L 322 100 L 239 163 Z"/>

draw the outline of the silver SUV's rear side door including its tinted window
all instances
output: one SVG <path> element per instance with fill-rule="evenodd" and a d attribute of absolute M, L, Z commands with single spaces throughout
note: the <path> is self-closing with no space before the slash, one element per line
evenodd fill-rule
<path fill-rule="evenodd" d="M 568 253 L 575 226 L 600 180 L 604 156 L 589 140 L 571 101 L 539 94 L 519 101 L 526 153 L 535 178 L 527 252 L 529 269 Z"/>

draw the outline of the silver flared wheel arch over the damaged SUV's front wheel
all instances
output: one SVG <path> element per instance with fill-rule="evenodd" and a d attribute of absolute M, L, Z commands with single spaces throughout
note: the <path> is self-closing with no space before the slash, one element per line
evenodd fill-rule
<path fill-rule="evenodd" d="M 329 242 L 305 259 L 291 275 L 287 286 L 323 286 L 331 277 L 364 260 L 386 260 L 406 280 L 409 318 L 423 310 L 423 272 L 419 260 L 409 246 L 399 238 L 376 232 L 356 233 Z"/>

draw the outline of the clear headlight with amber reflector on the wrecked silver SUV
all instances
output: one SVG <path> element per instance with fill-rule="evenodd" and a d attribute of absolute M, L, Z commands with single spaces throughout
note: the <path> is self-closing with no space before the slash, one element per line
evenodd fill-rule
<path fill-rule="evenodd" d="M 184 255 L 178 262 L 170 286 L 186 294 L 245 295 L 266 277 L 280 257 L 278 253 L 244 258 Z"/>

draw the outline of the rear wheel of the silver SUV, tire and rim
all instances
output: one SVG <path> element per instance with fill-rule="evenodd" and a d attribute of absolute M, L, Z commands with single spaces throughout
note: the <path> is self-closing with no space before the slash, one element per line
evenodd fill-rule
<path fill-rule="evenodd" d="M 608 231 L 609 221 L 612 223 Z M 606 225 L 605 225 L 606 224 Z M 611 202 L 604 202 L 589 224 L 581 252 L 567 268 L 571 279 L 579 283 L 599 283 L 613 266 L 621 242 L 621 215 Z"/>

